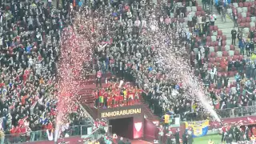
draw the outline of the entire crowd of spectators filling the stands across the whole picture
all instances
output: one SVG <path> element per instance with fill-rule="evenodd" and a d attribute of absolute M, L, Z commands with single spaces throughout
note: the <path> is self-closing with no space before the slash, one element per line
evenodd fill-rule
<path fill-rule="evenodd" d="M 196 6 L 196 1 L 192 0 L 191 4 Z M 254 104 L 253 59 L 247 57 L 233 62 L 223 58 L 222 70 L 217 70 L 216 66 L 208 70 L 210 46 L 207 46 L 206 36 L 211 33 L 210 26 L 214 26 L 214 14 L 207 12 L 209 15 L 199 18 L 186 15 L 186 6 L 190 2 L 181 7 L 175 2 L 162 3 L 160 11 L 154 9 L 153 3 L 143 1 L 129 5 L 113 2 L 111 7 L 105 1 L 93 2 L 91 5 L 92 11 L 95 10 L 95 18 L 98 18 L 98 25 L 102 26 L 98 40 L 100 44 L 95 45 L 97 62 L 94 67 L 99 75 L 98 82 L 101 83 L 100 74 L 106 71 L 126 81 L 135 81 L 138 88 L 145 91 L 142 98 L 149 103 L 154 114 L 160 117 L 168 111 L 181 114 L 184 119 L 190 112 L 202 111 L 198 102 L 182 95 L 182 82 L 166 80 L 164 63 L 158 58 L 155 47 L 150 46 L 152 42 L 147 36 L 149 29 L 159 27 L 166 32 L 172 31 L 172 34 L 165 35 L 167 42 L 174 42 L 177 50 L 187 53 L 186 56 L 190 55 L 194 72 L 209 89 L 210 99 L 216 109 Z M 79 2 L 77 7 L 81 6 Z M 66 2 L 63 3 L 63 9 L 55 9 L 50 2 L 46 5 L 37 1 L 17 1 L 1 7 L 1 134 L 22 133 L 21 137 L 10 137 L 8 142 L 38 140 L 46 131 L 34 131 L 52 130 L 54 127 L 54 84 L 57 80 L 59 40 L 63 27 L 72 23 L 73 9 L 76 7 Z M 85 8 L 87 14 L 91 13 L 89 9 Z M 188 26 L 180 22 L 184 17 L 189 19 Z M 218 43 L 218 47 L 222 48 L 222 38 L 218 38 Z M 186 50 L 182 49 L 184 45 Z M 248 45 L 249 41 L 243 42 L 239 38 L 242 54 L 243 47 Z M 195 46 L 199 46 L 198 54 L 193 51 Z M 227 74 L 218 73 L 231 70 L 238 70 L 235 82 L 230 82 Z M 74 107 L 74 114 L 70 114 L 71 126 L 85 121 L 86 116 L 80 111 L 79 106 Z"/>

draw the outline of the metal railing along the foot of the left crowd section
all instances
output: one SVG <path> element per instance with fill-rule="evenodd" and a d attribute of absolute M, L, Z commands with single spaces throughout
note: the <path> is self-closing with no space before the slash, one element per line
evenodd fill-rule
<path fill-rule="evenodd" d="M 90 135 L 93 125 L 69 126 L 62 127 L 59 138 L 86 136 Z M 22 142 L 38 142 L 38 141 L 54 141 L 54 130 L 38 130 L 19 134 L 0 135 L 0 143 L 22 143 Z M 51 135 L 53 134 L 53 135 Z"/>

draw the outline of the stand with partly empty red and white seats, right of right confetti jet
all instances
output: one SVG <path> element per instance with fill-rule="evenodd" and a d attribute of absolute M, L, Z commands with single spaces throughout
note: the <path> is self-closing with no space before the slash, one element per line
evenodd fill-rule
<path fill-rule="evenodd" d="M 207 2 L 202 2 L 202 5 L 205 4 Z M 230 1 L 215 1 L 214 6 L 221 16 L 219 18 L 222 18 L 222 22 L 226 22 L 226 12 L 231 14 Z M 251 114 L 251 110 L 245 111 L 241 106 L 254 105 L 254 30 L 250 33 L 248 30 L 246 33 L 246 29 L 242 30 L 239 27 L 238 30 L 231 30 L 231 39 L 226 39 L 226 35 L 222 35 L 222 30 L 214 26 L 216 15 L 207 15 L 206 21 L 202 22 L 202 29 L 193 30 L 196 37 L 192 37 L 191 42 L 191 51 L 193 51 L 191 64 L 195 68 L 195 74 L 209 87 L 215 109 L 239 107 L 234 109 L 234 115 Z M 237 19 L 234 14 L 230 16 L 234 16 L 234 20 Z M 250 19 L 254 20 L 254 17 L 247 19 L 249 22 Z M 234 21 L 234 26 L 238 26 L 237 21 Z M 244 35 L 247 38 L 247 34 L 249 39 L 244 40 Z M 235 50 L 236 45 L 240 50 Z M 247 58 L 244 57 L 245 54 Z M 250 56 L 251 58 L 248 58 Z M 194 102 L 193 109 L 196 106 L 197 102 Z M 222 118 L 230 117 L 232 114 L 231 110 L 218 110 L 218 112 Z"/>

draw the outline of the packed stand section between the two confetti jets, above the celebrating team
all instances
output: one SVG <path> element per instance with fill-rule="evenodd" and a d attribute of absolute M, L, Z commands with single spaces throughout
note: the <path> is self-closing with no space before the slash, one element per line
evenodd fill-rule
<path fill-rule="evenodd" d="M 195 1 L 192 3 L 193 6 L 196 5 Z M 182 114 L 183 118 L 184 113 L 190 111 L 190 99 L 177 97 L 174 101 L 174 98 L 167 97 L 178 91 L 182 93 L 182 82 L 178 84 L 167 82 L 161 60 L 156 58 L 157 51 L 150 46 L 150 38 L 146 37 L 146 33 L 149 29 L 154 29 L 152 24 L 157 24 L 164 30 L 175 31 L 174 38 L 179 40 L 174 41 L 175 46 L 190 42 L 190 33 L 187 33 L 188 28 L 184 21 L 186 7 L 177 7 L 175 3 L 163 4 L 163 10 L 154 11 L 151 9 L 154 7 L 153 3 L 141 2 L 118 6 L 113 9 L 114 12 L 108 11 L 104 5 L 98 9 L 111 14 L 107 15 L 106 19 L 98 19 L 98 22 L 112 23 L 112 25 L 103 25 L 106 27 L 102 30 L 102 38 L 99 38 L 100 43 L 95 46 L 95 54 L 98 55 L 98 62 L 94 66 L 97 71 L 97 82 L 102 82 L 102 74 L 106 71 L 126 81 L 135 81 L 139 88 L 145 90 L 142 97 L 149 102 L 154 114 L 162 117 L 170 110 L 173 114 Z M 174 10 L 185 11 L 170 18 Z M 104 13 L 97 15 L 104 17 Z M 146 17 L 148 14 L 152 14 L 153 18 Z M 191 24 L 195 25 L 195 23 Z M 172 39 L 170 36 L 168 38 Z"/>

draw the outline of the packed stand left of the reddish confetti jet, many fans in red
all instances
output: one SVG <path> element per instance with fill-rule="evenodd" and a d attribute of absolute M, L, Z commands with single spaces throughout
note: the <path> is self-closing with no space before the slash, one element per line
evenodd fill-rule
<path fill-rule="evenodd" d="M 34 142 L 47 136 L 52 140 L 59 40 L 70 13 L 68 3 L 58 10 L 50 3 L 15 1 L 1 6 L 2 143 Z M 69 126 L 87 121 L 78 104 L 69 117 Z"/>

